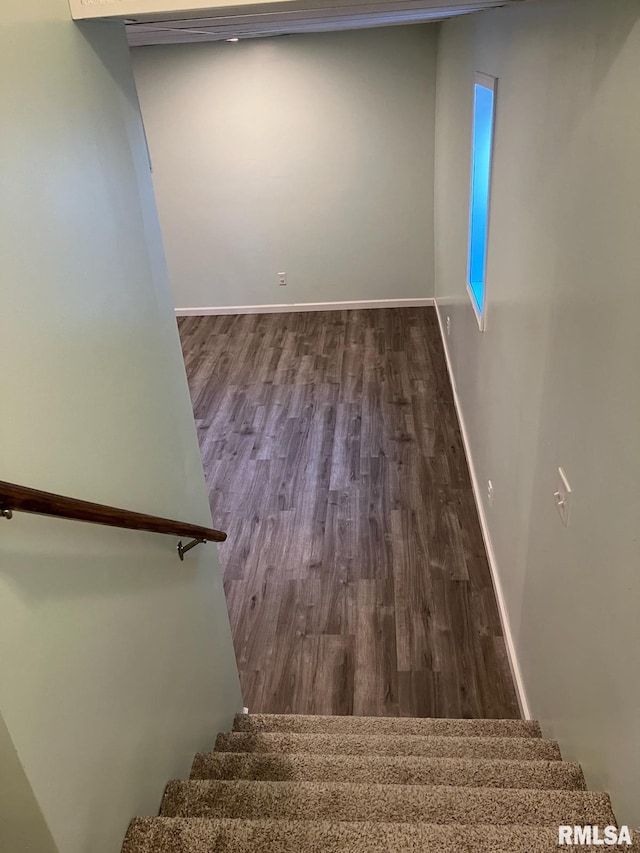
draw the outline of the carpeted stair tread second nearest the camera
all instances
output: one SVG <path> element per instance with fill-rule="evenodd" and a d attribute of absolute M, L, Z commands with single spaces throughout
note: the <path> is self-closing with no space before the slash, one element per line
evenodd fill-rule
<path fill-rule="evenodd" d="M 609 796 L 599 792 L 303 781 L 177 780 L 167 786 L 160 813 L 556 827 L 615 822 Z"/>

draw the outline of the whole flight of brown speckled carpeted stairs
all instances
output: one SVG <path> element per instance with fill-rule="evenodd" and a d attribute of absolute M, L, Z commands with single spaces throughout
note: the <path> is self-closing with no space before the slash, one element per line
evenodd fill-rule
<path fill-rule="evenodd" d="M 585 787 L 535 722 L 239 715 L 122 853 L 541 853 L 615 825 Z"/>

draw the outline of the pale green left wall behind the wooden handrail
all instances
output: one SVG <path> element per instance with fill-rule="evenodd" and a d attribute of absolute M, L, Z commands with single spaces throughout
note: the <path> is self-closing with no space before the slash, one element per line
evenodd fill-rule
<path fill-rule="evenodd" d="M 0 66 L 0 478 L 208 524 L 123 27 L 9 0 Z M 0 522 L 4 722 L 59 853 L 114 853 L 241 706 L 215 547 Z"/>

